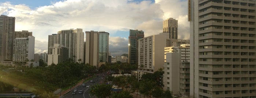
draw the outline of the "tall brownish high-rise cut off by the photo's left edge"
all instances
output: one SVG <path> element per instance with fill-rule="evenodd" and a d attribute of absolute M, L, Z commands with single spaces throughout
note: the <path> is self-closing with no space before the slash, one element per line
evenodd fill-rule
<path fill-rule="evenodd" d="M 0 16 L 0 64 L 11 65 L 13 41 L 15 31 L 15 17 Z"/>

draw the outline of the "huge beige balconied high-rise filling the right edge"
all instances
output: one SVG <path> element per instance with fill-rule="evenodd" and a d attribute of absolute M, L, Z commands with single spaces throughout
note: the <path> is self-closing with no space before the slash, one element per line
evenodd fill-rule
<path fill-rule="evenodd" d="M 256 0 L 188 0 L 190 95 L 256 98 Z"/>

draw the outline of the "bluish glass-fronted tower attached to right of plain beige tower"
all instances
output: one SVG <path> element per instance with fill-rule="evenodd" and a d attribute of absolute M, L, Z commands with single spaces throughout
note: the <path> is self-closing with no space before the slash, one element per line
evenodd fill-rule
<path fill-rule="evenodd" d="M 108 36 L 109 33 L 99 31 L 99 60 L 100 62 L 108 62 Z"/>

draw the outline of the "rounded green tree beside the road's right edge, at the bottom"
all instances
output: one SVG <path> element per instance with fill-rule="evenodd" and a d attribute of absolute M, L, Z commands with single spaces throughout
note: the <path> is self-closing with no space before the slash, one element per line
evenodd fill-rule
<path fill-rule="evenodd" d="M 98 98 L 107 98 L 111 95 L 112 85 L 110 84 L 97 84 L 90 87 L 90 94 Z"/>

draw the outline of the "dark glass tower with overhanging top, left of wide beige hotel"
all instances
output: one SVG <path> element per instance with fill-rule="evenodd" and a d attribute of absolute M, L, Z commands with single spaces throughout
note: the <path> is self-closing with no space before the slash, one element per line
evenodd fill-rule
<path fill-rule="evenodd" d="M 130 36 L 128 39 L 128 63 L 138 63 L 138 39 L 144 38 L 144 31 L 142 30 L 130 30 Z"/>

